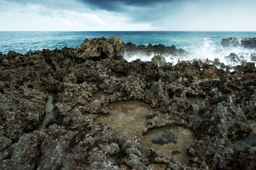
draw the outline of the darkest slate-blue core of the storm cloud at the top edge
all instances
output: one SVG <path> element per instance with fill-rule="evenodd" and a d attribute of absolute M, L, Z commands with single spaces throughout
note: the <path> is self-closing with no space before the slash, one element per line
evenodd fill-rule
<path fill-rule="evenodd" d="M 153 6 L 154 4 L 170 3 L 177 0 L 77 0 L 101 10 L 120 11 L 124 6 Z"/>

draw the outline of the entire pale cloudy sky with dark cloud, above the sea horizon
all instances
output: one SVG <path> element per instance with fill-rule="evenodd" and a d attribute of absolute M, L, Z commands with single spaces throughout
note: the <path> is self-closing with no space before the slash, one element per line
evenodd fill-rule
<path fill-rule="evenodd" d="M 0 31 L 256 31 L 255 0 L 0 0 Z"/>

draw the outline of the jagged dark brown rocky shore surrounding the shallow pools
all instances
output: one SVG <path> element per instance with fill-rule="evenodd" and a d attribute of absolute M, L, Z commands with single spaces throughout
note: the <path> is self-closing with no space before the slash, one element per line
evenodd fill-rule
<path fill-rule="evenodd" d="M 161 45 L 143 52 L 148 48 L 184 53 Z M 152 62 L 122 59 L 134 49 L 141 48 L 111 37 L 86 39 L 76 49 L 0 53 L 1 169 L 255 169 L 256 143 L 236 150 L 233 142 L 256 120 L 254 63 L 230 73 L 200 61 L 173 66 L 160 55 Z M 93 98 L 100 91 L 108 96 Z M 47 93 L 55 119 L 42 129 Z M 207 98 L 192 124 L 189 97 Z M 136 136 L 113 138 L 96 117 L 120 101 L 150 104 L 144 135 L 168 126 L 193 131 L 188 163 L 157 155 Z"/>

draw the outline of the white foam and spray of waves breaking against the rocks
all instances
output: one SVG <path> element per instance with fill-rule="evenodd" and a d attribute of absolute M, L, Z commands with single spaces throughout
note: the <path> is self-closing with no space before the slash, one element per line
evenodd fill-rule
<path fill-rule="evenodd" d="M 195 48 L 188 48 L 187 50 L 189 52 L 189 55 L 184 56 L 173 56 L 173 55 L 166 55 L 164 56 L 166 59 L 166 62 L 171 62 L 172 64 L 177 64 L 177 62 L 180 60 L 187 60 L 190 62 L 193 62 L 193 60 L 202 60 L 206 61 L 214 59 L 219 59 L 220 62 L 223 62 L 225 65 L 228 66 L 236 66 L 237 64 L 241 64 L 241 62 L 255 62 L 251 58 L 251 55 L 253 53 L 256 53 L 256 49 L 248 49 L 243 48 L 241 46 L 237 47 L 228 47 L 223 48 L 222 46 L 216 46 L 211 39 L 204 39 L 204 42 L 201 46 L 196 46 Z M 236 59 L 230 59 L 230 57 L 227 57 L 230 55 L 230 53 L 236 53 L 237 57 Z M 154 55 L 157 53 L 152 53 L 150 55 L 145 54 L 136 54 L 133 56 L 125 55 L 124 59 L 126 59 L 128 62 L 131 62 L 132 60 L 140 59 L 143 61 L 150 61 Z"/>

